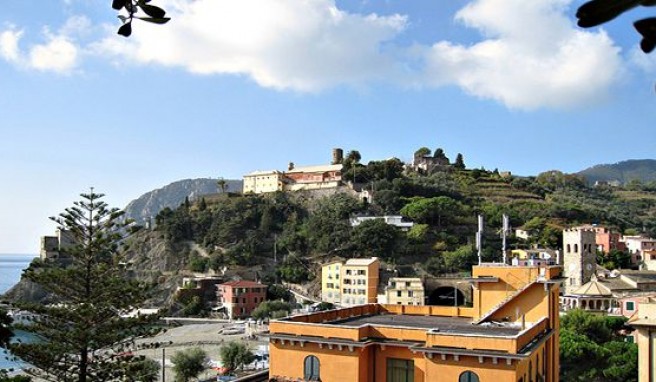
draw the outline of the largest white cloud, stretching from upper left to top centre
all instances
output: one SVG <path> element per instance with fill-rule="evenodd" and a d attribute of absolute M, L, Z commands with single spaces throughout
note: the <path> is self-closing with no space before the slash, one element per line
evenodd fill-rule
<path fill-rule="evenodd" d="M 166 26 L 135 22 L 123 44 L 101 49 L 199 74 L 245 74 L 264 87 L 317 91 L 382 80 L 394 72 L 383 44 L 405 28 L 399 15 L 357 15 L 334 0 L 169 1 Z"/>

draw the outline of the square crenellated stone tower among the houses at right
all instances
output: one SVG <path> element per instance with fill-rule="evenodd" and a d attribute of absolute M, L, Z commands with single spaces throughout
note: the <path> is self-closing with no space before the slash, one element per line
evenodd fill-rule
<path fill-rule="evenodd" d="M 596 234 L 592 229 L 563 231 L 563 275 L 565 294 L 590 281 L 597 268 Z"/>

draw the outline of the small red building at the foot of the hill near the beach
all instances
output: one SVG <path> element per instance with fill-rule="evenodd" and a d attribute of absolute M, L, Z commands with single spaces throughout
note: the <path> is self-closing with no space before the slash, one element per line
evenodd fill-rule
<path fill-rule="evenodd" d="M 218 302 L 229 318 L 248 317 L 266 299 L 267 286 L 254 281 L 230 281 L 217 286 Z"/>

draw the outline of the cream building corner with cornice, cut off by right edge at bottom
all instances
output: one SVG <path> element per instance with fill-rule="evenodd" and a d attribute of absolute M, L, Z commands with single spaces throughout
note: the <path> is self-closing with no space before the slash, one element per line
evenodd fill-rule
<path fill-rule="evenodd" d="M 656 302 L 641 303 L 629 324 L 638 332 L 638 382 L 656 382 Z"/>

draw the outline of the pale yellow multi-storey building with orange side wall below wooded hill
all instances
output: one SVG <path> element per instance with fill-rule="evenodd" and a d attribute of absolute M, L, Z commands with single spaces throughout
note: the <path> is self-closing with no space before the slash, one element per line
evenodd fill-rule
<path fill-rule="evenodd" d="M 377 257 L 325 264 L 321 267 L 322 300 L 341 306 L 375 303 L 379 277 Z"/>

